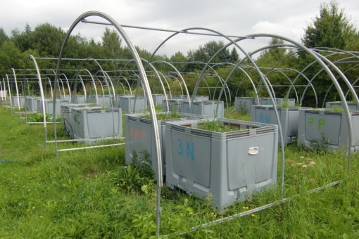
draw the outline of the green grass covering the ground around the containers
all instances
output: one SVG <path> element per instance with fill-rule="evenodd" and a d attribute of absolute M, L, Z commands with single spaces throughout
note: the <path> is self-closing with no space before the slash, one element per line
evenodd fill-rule
<path fill-rule="evenodd" d="M 247 115 L 230 112 L 229 117 Z M 52 134 L 51 125 L 47 129 Z M 58 125 L 61 133 L 61 125 Z M 65 143 L 63 147 L 77 144 Z M 146 170 L 125 165 L 125 148 L 116 146 L 59 153 L 44 143 L 42 125 L 20 124 L 0 107 L 0 238 L 156 238 L 156 182 Z M 208 200 L 162 188 L 160 234 L 177 238 L 358 238 L 359 167 L 351 170 L 342 151 L 286 147 L 285 186 L 253 195 L 216 212 Z M 279 175 L 281 156 L 279 153 Z M 308 190 L 343 179 L 337 186 Z M 296 197 L 294 197 L 296 196 Z M 294 197 L 294 198 L 291 198 Z M 268 203 L 291 198 L 260 212 L 222 224 L 189 228 L 225 219 Z"/>

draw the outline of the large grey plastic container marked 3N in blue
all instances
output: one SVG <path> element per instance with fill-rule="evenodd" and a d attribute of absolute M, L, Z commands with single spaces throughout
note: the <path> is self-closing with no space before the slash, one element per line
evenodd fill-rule
<path fill-rule="evenodd" d="M 196 129 L 199 122 L 166 124 L 166 185 L 180 188 L 223 209 L 277 183 L 278 127 L 220 119 L 241 130 Z"/>

